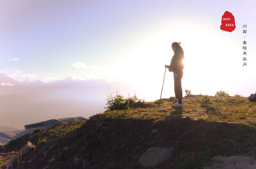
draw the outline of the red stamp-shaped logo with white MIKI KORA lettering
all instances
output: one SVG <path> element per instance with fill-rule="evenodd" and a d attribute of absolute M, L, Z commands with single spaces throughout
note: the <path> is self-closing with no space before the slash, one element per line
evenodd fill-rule
<path fill-rule="evenodd" d="M 235 17 L 229 11 L 225 11 L 222 15 L 220 29 L 230 33 L 236 29 Z"/>

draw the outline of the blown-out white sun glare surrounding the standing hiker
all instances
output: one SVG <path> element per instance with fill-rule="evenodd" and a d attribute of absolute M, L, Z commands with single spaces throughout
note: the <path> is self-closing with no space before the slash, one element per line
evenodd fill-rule
<path fill-rule="evenodd" d="M 175 30 L 160 29 L 154 33 L 147 31 L 138 36 L 133 44 L 140 45 L 129 57 L 129 61 L 122 66 L 119 72 L 122 80 L 134 84 L 140 89 L 145 99 L 159 98 L 159 91 L 163 85 L 164 64 L 170 64 L 173 56 L 171 45 L 173 41 L 181 42 L 184 50 L 184 76 L 182 89 L 189 89 L 196 94 L 214 94 L 225 81 L 223 64 L 228 62 L 230 53 L 225 43 L 233 44 L 232 40 L 221 40 L 220 34 L 212 29 L 198 29 L 191 26 L 189 31 L 177 27 Z M 143 44 L 143 45 L 141 45 Z M 236 45 L 236 44 L 234 44 Z M 218 48 L 218 52 L 216 50 Z M 227 57 L 223 57 L 223 56 Z M 216 80 L 212 80 L 216 79 Z M 163 97 L 174 96 L 173 75 L 166 70 Z"/>

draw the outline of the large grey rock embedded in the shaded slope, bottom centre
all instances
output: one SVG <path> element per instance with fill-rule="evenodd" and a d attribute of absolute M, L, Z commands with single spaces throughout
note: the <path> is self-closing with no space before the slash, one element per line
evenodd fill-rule
<path fill-rule="evenodd" d="M 172 157 L 172 152 L 174 148 L 159 148 L 150 147 L 144 152 L 139 159 L 139 162 L 144 167 L 157 166 L 163 161 L 166 161 Z"/>

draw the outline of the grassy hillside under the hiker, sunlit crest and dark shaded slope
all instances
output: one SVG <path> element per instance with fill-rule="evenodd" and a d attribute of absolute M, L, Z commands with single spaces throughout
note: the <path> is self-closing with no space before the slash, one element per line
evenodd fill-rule
<path fill-rule="evenodd" d="M 22 139 L 35 143 L 36 149 L 22 156 L 23 168 L 143 168 L 138 159 L 149 147 L 175 147 L 172 159 L 155 168 L 202 168 L 217 155 L 256 158 L 256 104 L 243 97 L 209 96 L 210 107 L 201 107 L 202 97 L 185 97 L 184 108 L 176 109 L 173 98 L 162 99 L 160 107 L 156 101 L 136 103 L 129 110 L 93 115 L 83 126 L 36 131 L 4 148 L 19 149 Z"/>

